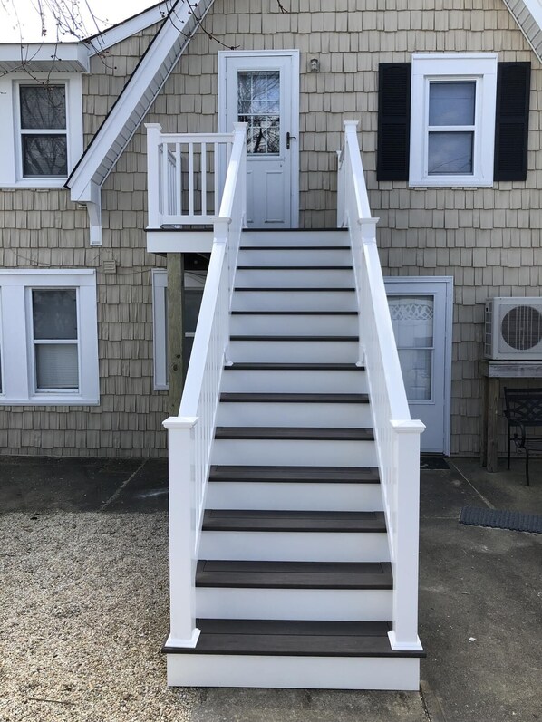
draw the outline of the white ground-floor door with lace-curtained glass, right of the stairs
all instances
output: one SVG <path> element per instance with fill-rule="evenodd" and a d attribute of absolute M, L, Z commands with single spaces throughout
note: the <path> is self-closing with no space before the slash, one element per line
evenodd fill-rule
<path fill-rule="evenodd" d="M 442 278 L 387 278 L 386 293 L 412 419 L 421 419 L 421 450 L 450 453 L 453 283 Z"/>

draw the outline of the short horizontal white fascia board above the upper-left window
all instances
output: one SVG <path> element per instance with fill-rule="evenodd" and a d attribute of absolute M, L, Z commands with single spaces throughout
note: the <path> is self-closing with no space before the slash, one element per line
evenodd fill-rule
<path fill-rule="evenodd" d="M 5 63 L 13 63 L 14 70 L 28 63 L 44 64 L 47 69 L 55 63 L 71 63 L 80 72 L 89 72 L 91 67 L 83 43 L 1 43 L 0 64 Z"/>

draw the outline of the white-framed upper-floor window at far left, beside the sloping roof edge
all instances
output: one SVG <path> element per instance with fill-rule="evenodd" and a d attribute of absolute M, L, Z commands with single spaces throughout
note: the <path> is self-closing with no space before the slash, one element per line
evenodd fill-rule
<path fill-rule="evenodd" d="M 0 188 L 62 188 L 82 155 L 79 73 L 0 78 Z"/>

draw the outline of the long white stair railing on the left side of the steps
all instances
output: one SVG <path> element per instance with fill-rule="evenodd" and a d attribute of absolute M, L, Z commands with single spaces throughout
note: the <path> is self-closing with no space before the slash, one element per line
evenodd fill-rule
<path fill-rule="evenodd" d="M 246 129 L 246 123 L 236 123 L 179 416 L 164 421 L 169 431 L 168 643 L 178 647 L 195 646 L 199 636 L 195 623 L 196 562 L 220 379 L 227 363 L 237 252 L 245 223 Z"/>

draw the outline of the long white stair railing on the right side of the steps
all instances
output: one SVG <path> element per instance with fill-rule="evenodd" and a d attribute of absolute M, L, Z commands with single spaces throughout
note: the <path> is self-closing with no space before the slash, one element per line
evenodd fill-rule
<path fill-rule="evenodd" d="M 394 650 L 421 650 L 418 639 L 418 537 L 421 421 L 411 420 L 376 246 L 357 140 L 344 122 L 339 156 L 338 221 L 350 231 L 360 319 L 359 363 L 367 371 L 393 571 L 390 641 Z"/>

